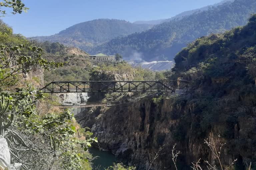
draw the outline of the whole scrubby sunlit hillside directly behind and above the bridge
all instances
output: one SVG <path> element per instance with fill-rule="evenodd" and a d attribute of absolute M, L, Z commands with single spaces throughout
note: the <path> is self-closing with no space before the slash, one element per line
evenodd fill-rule
<path fill-rule="evenodd" d="M 125 61 L 92 63 L 85 51 L 58 42 L 43 42 L 39 45 L 45 50 L 43 55 L 45 59 L 64 63 L 63 67 L 52 67 L 44 71 L 44 84 L 52 81 L 162 80 L 164 78 L 164 72 L 154 72 L 140 66 L 134 68 Z"/>

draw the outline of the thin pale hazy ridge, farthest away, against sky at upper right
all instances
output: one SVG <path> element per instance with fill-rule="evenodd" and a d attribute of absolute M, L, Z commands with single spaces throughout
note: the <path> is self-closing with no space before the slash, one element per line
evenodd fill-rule
<path fill-rule="evenodd" d="M 193 13 L 196 12 L 202 12 L 202 11 L 207 11 L 209 8 L 211 7 L 217 7 L 219 5 L 222 5 L 226 2 L 234 2 L 234 0 L 223 0 L 219 3 L 213 4 L 213 5 L 208 5 L 202 8 L 198 8 L 198 9 L 194 9 L 194 10 L 190 10 L 190 11 L 184 11 L 178 15 L 175 15 L 174 17 L 168 18 L 168 19 L 159 19 L 159 20 L 150 20 L 150 21 L 135 21 L 133 22 L 133 24 L 153 24 L 153 25 L 157 25 L 157 24 L 162 24 L 164 22 L 168 22 L 174 19 L 182 19 L 182 17 L 188 16 L 188 15 L 192 15 Z"/>

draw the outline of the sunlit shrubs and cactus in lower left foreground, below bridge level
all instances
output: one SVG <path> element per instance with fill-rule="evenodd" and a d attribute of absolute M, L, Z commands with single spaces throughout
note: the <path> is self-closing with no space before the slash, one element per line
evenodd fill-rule
<path fill-rule="evenodd" d="M 12 162 L 22 163 L 25 169 L 91 169 L 92 156 L 87 149 L 97 138 L 80 128 L 71 113 L 38 114 L 36 103 L 43 96 L 33 88 L 2 96 L 11 101 L 3 104 L 8 108 L 2 120 L 11 121 L 4 135 L 11 148 Z"/>

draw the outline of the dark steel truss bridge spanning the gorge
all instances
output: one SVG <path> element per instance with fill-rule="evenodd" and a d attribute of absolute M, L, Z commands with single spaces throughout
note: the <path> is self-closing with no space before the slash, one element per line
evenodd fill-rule
<path fill-rule="evenodd" d="M 78 92 L 175 92 L 175 87 L 160 81 L 53 81 L 43 93 Z"/>

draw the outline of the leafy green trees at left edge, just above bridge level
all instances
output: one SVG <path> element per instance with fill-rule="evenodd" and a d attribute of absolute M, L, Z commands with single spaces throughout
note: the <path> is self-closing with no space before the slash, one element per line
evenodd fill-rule
<path fill-rule="evenodd" d="M 0 87 L 13 85 L 17 75 L 31 70 L 50 66 L 59 67 L 63 63 L 47 61 L 42 58 L 42 48 L 25 45 L 11 46 L 0 45 Z"/>

